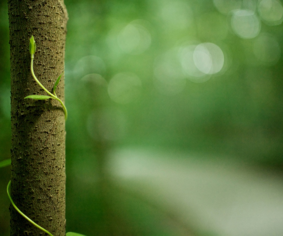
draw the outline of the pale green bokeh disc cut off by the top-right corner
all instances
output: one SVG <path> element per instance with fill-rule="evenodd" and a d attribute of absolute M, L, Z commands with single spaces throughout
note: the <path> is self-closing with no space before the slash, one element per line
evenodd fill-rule
<path fill-rule="evenodd" d="M 283 21 L 283 7 L 277 0 L 261 0 L 258 5 L 261 19 L 269 25 L 278 25 Z"/>

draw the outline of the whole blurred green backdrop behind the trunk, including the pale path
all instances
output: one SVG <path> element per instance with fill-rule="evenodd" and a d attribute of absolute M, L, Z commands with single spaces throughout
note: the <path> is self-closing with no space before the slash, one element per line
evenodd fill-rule
<path fill-rule="evenodd" d="M 283 234 L 277 0 L 65 0 L 67 231 Z M 10 158 L 7 3 L 0 160 Z M 0 170 L 9 235 L 9 167 Z"/>

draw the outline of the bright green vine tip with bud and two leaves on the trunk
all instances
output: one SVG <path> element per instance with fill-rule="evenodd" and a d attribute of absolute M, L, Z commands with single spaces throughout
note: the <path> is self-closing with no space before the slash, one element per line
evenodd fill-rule
<path fill-rule="evenodd" d="M 64 109 L 64 113 L 65 113 L 65 120 L 67 119 L 68 117 L 68 113 L 67 113 L 67 109 L 64 105 L 64 103 L 62 102 L 61 99 L 59 99 L 55 93 L 55 90 L 57 89 L 57 85 L 59 84 L 60 82 L 60 78 L 62 76 L 62 73 L 56 80 L 54 86 L 53 86 L 53 93 L 50 93 L 43 85 L 42 83 L 40 83 L 38 81 L 38 79 L 36 78 L 35 74 L 34 74 L 34 70 L 33 70 L 33 59 L 34 59 L 34 53 L 35 53 L 35 50 L 36 50 L 36 45 L 35 45 L 35 41 L 34 41 L 34 37 L 32 35 L 32 37 L 29 39 L 29 53 L 30 53 L 30 57 L 31 57 L 31 62 L 30 62 L 30 70 L 32 72 L 32 76 L 34 78 L 34 80 L 39 84 L 39 86 L 49 95 L 29 95 L 29 96 L 26 96 L 25 99 L 27 98 L 30 98 L 30 99 L 35 99 L 35 100 L 47 100 L 47 99 L 56 99 L 57 101 L 59 101 L 62 106 L 63 106 L 63 109 Z"/>

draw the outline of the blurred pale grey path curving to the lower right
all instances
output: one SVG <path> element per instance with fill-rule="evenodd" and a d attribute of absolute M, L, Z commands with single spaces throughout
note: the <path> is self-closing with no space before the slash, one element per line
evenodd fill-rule
<path fill-rule="evenodd" d="M 283 235 L 280 176 L 228 160 L 144 150 L 119 150 L 109 163 L 117 183 L 174 209 L 194 228 L 213 235 Z"/>

